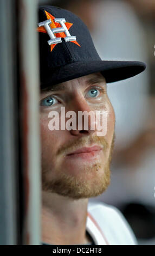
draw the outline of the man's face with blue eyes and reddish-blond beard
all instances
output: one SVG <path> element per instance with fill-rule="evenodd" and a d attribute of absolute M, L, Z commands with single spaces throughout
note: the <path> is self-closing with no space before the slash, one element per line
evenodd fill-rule
<path fill-rule="evenodd" d="M 65 114 L 68 111 L 76 113 L 76 130 L 49 130 L 49 112 L 60 114 L 61 107 L 65 107 Z M 106 135 L 99 137 L 96 129 L 91 130 L 91 117 L 88 119 L 88 129 L 78 130 L 79 111 L 106 111 Z M 65 121 L 69 119 L 66 117 Z M 40 124 L 42 190 L 73 199 L 95 197 L 104 192 L 110 182 L 109 165 L 115 126 L 105 78 L 100 73 L 94 73 L 53 86 L 48 92 L 41 92 Z M 100 146 L 101 150 L 72 154 L 75 150 L 94 145 Z"/>

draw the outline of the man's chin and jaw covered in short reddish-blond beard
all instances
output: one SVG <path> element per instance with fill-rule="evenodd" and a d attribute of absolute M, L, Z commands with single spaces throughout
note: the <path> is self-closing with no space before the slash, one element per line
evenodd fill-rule
<path fill-rule="evenodd" d="M 60 196 L 82 199 L 100 196 L 104 193 L 111 181 L 111 172 L 107 165 L 94 164 L 93 170 L 85 169 L 82 175 L 59 173 L 59 177 L 49 180 L 47 175 L 42 175 L 42 190 L 56 193 Z"/>

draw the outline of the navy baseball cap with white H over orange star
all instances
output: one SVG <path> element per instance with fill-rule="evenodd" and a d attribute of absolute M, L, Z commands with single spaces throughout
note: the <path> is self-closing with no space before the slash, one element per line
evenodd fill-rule
<path fill-rule="evenodd" d="M 107 83 L 116 82 L 146 68 L 143 62 L 101 60 L 85 23 L 68 10 L 40 6 L 37 31 L 42 89 L 94 72 L 101 72 Z"/>

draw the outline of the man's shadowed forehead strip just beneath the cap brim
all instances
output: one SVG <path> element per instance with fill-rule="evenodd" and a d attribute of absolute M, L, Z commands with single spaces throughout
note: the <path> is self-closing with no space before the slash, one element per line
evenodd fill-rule
<path fill-rule="evenodd" d="M 80 86 L 82 85 L 95 85 L 95 84 L 106 84 L 105 77 L 102 76 L 100 72 L 96 72 L 90 75 L 82 76 L 75 78 L 73 80 L 69 80 L 63 83 L 55 84 L 54 86 L 50 86 L 46 89 L 41 90 L 41 93 L 46 93 L 46 92 L 55 92 L 55 91 L 60 91 L 60 90 L 65 90 L 69 88 L 69 86 Z"/>

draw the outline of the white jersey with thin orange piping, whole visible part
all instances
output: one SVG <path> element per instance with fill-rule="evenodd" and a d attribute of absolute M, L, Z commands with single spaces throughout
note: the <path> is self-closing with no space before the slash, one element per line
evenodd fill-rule
<path fill-rule="evenodd" d="M 89 202 L 86 229 L 95 245 L 137 245 L 130 225 L 112 205 Z"/>

